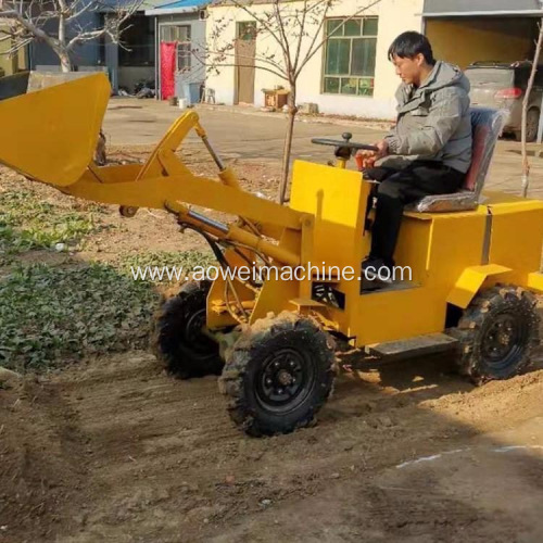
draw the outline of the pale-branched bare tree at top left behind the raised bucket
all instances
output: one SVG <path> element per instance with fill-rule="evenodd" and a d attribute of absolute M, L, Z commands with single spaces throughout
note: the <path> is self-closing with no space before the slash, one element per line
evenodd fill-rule
<path fill-rule="evenodd" d="M 143 0 L 4 0 L 0 3 L 0 40 L 10 41 L 9 54 L 16 53 L 33 41 L 47 43 L 59 56 L 62 72 L 72 71 L 74 49 L 83 43 L 108 36 L 119 43 L 128 18 Z M 81 21 L 91 13 L 102 12 L 103 25 L 97 27 Z M 92 17 L 90 17 L 92 18 Z"/>

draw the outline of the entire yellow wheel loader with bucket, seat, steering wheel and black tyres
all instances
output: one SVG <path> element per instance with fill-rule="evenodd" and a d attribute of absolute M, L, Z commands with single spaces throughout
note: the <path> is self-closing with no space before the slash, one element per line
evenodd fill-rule
<path fill-rule="evenodd" d="M 478 382 L 528 367 L 539 342 L 543 202 L 482 192 L 498 113 L 473 110 L 466 187 L 405 212 L 394 256 L 409 276 L 377 285 L 361 274 L 372 185 L 345 168 L 367 146 L 350 135 L 316 140 L 333 147 L 339 167 L 295 162 L 290 204 L 279 205 L 240 187 L 194 112 L 172 125 L 144 164 L 100 167 L 92 156 L 106 77 L 35 92 L 27 84 L 7 78 L 0 88 L 1 163 L 66 194 L 118 204 L 125 216 L 167 210 L 212 248 L 225 273 L 185 285 L 165 303 L 156 346 L 181 377 L 220 374 L 231 418 L 248 433 L 312 424 L 332 388 L 332 337 L 382 357 L 455 352 L 459 370 Z M 216 179 L 193 174 L 176 153 L 190 130 L 215 161 Z M 235 218 L 226 224 L 191 206 Z M 275 273 L 262 278 L 256 268 Z"/>

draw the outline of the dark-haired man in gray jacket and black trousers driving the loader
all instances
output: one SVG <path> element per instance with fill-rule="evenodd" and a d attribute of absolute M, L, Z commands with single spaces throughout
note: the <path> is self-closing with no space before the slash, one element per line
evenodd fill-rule
<path fill-rule="evenodd" d="M 400 35 L 389 59 L 402 78 L 396 126 L 376 143 L 378 151 L 357 153 L 364 177 L 379 181 L 371 251 L 363 263 L 368 278 L 394 266 L 404 206 L 456 192 L 471 163 L 469 81 L 460 68 L 435 61 L 428 38 L 416 31 Z"/>

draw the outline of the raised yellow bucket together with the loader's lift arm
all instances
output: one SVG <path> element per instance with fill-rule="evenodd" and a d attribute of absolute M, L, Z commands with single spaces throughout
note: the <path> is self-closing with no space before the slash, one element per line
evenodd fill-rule
<path fill-rule="evenodd" d="M 10 129 L 0 134 L 0 163 L 66 194 L 118 204 L 128 211 L 125 215 L 138 207 L 166 210 L 181 228 L 205 238 L 223 267 L 240 260 L 292 267 L 302 263 L 302 237 L 310 235 L 313 217 L 243 190 L 213 149 L 195 112 L 173 123 L 144 164 L 98 166 L 92 151 L 109 100 L 109 81 L 99 74 L 1 101 L 0 115 Z M 41 123 L 36 123 L 38 117 Z M 176 154 L 191 130 L 215 162 L 218 180 L 194 175 Z M 22 141 L 28 144 L 23 147 Z M 238 219 L 226 224 L 190 205 Z M 238 306 L 235 315 L 226 302 L 228 313 L 238 321 L 247 320 L 244 306 L 254 305 L 256 294 L 249 301 L 237 291 L 254 290 L 254 285 L 226 282 L 220 286 L 222 298 L 233 298 Z"/>

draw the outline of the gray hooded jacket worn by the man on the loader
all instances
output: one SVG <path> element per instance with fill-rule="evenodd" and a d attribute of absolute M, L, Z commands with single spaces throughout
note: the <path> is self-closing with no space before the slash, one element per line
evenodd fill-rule
<path fill-rule="evenodd" d="M 390 154 L 402 155 L 403 165 L 439 161 L 466 173 L 471 163 L 469 88 L 460 68 L 441 61 L 419 88 L 402 84 L 396 126 L 384 138 Z M 399 157 L 386 159 L 382 165 L 401 167 Z"/>

